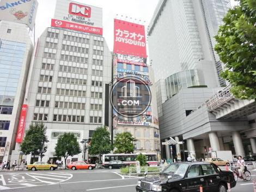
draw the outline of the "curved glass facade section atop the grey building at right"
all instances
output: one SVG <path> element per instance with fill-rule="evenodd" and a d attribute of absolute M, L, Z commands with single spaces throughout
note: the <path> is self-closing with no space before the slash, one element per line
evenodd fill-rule
<path fill-rule="evenodd" d="M 167 97 L 170 98 L 177 94 L 183 87 L 197 86 L 199 84 L 197 70 L 186 70 L 174 73 L 166 78 Z"/>

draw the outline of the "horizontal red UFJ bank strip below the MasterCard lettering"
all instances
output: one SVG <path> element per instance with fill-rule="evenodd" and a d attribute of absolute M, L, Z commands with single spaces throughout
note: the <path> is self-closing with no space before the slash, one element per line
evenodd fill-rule
<path fill-rule="evenodd" d="M 72 23 L 72 22 L 68 22 L 68 21 L 56 20 L 54 18 L 52 18 L 51 26 L 102 35 L 102 28 L 100 28 L 100 27 L 86 26 L 84 24 L 77 24 L 77 23 Z"/>

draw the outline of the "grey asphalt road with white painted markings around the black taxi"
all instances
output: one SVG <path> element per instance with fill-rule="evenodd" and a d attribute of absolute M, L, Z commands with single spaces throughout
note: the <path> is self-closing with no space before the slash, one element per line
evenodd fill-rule
<path fill-rule="evenodd" d="M 256 179 L 256 170 L 252 171 Z M 118 170 L 0 172 L 0 190 L 14 192 L 135 192 L 136 178 Z M 253 183 L 238 181 L 231 192 L 252 192 Z"/>

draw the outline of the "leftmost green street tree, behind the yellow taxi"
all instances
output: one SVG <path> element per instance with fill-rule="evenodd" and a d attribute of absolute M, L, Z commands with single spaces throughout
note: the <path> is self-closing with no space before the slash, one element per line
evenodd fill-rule
<path fill-rule="evenodd" d="M 26 136 L 21 144 L 21 151 L 24 154 L 32 153 L 33 159 L 35 159 L 35 156 L 40 156 L 42 161 L 42 157 L 44 157 L 44 153 L 47 151 L 47 146 L 45 146 L 48 142 L 46 128 L 44 123 L 41 122 L 29 125 Z"/>

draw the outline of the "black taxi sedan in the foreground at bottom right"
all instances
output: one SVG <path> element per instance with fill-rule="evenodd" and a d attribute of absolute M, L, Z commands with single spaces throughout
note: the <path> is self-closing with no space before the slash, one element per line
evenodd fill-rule
<path fill-rule="evenodd" d="M 157 177 L 139 179 L 137 192 L 226 192 L 235 187 L 233 172 L 222 171 L 217 165 L 207 162 L 182 162 L 168 165 Z"/>

